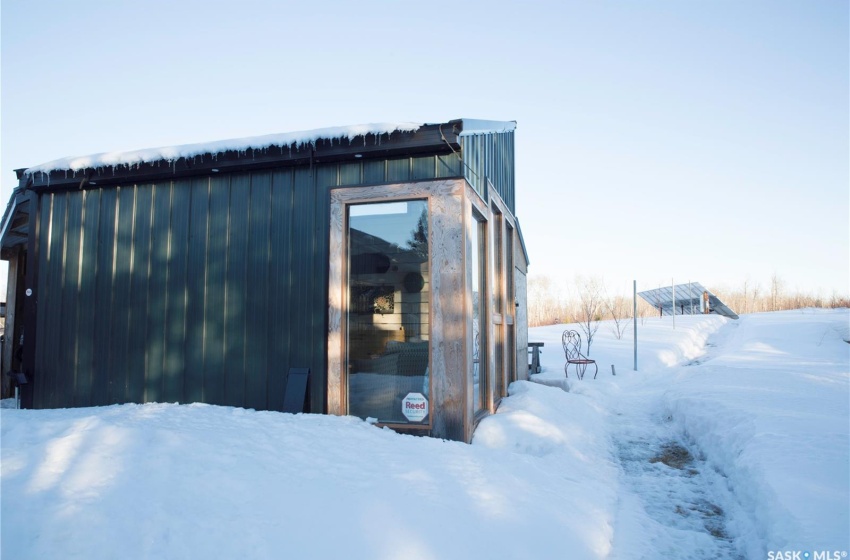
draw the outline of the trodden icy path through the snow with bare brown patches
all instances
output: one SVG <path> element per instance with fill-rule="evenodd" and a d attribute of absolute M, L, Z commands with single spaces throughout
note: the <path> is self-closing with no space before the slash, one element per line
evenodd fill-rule
<path fill-rule="evenodd" d="M 728 328 L 706 345 L 709 352 L 728 336 L 723 332 Z M 728 526 L 730 515 L 743 514 L 726 478 L 666 411 L 657 388 L 639 382 L 628 387 L 612 403 L 611 422 L 621 473 L 611 558 L 744 558 Z"/>

